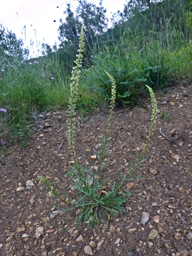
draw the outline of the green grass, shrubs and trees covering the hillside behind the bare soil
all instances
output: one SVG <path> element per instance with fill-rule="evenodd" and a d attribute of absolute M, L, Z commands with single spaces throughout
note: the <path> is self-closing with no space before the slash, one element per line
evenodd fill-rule
<path fill-rule="evenodd" d="M 39 112 L 68 106 L 82 23 L 85 47 L 76 102 L 82 121 L 86 112 L 110 100 L 107 73 L 116 82 L 115 104 L 122 106 L 139 104 L 149 93 L 145 85 L 166 92 L 173 78 L 191 79 L 191 1 L 129 1 L 108 29 L 105 11 L 102 1 L 95 6 L 80 0 L 75 12 L 68 5 L 59 27 L 60 47 L 44 44 L 43 57 L 33 60 L 22 41 L 1 27 L 0 107 L 6 109 L 1 139 L 18 139 L 25 146 Z"/>

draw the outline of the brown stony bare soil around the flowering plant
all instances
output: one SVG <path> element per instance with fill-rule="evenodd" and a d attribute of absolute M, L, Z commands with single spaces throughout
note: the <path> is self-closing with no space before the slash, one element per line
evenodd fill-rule
<path fill-rule="evenodd" d="M 70 187 L 65 112 L 36 117 L 33 137 L 24 151 L 18 145 L 11 146 L 8 154 L 1 149 L 0 255 L 82 256 L 87 255 L 86 245 L 97 256 L 192 255 L 192 86 L 187 82 L 171 85 L 166 94 L 159 92 L 156 97 L 156 129 L 146 160 L 137 172 L 141 178 L 130 181 L 134 183 L 130 188 L 133 196 L 127 198 L 126 212 L 107 223 L 101 220 L 92 230 L 87 230 L 87 225 L 75 227 L 76 210 L 50 218 L 56 210 L 55 198 L 46 195 L 37 178 L 50 177 L 61 192 Z M 150 100 L 144 104 L 149 110 L 134 107 L 114 112 L 107 144 L 110 154 L 105 158 L 108 186 L 118 179 L 119 172 L 127 172 L 127 164 L 134 162 L 146 142 Z M 162 112 L 164 118 L 160 117 Z M 86 122 L 79 119 L 76 149 L 83 164 L 97 165 L 90 156 L 102 142 L 106 124 L 107 113 L 102 111 L 88 116 Z M 33 181 L 34 186 L 28 188 L 26 181 Z M 73 188 L 69 192 L 75 193 Z M 145 225 L 141 223 L 143 212 L 149 213 Z M 39 227 L 43 233 L 37 238 Z M 151 233 L 156 238 L 150 239 Z"/>

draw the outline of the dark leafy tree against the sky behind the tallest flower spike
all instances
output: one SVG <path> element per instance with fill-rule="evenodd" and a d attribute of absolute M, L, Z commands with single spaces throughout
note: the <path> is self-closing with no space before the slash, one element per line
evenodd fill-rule
<path fill-rule="evenodd" d="M 107 18 L 105 17 L 106 9 L 100 5 L 87 3 L 87 0 L 78 0 L 78 8 L 75 14 L 71 11 L 70 4 L 67 4 L 67 9 L 64 14 L 67 14 L 65 23 L 62 20 L 59 31 L 60 46 L 65 46 L 66 43 L 78 46 L 80 29 L 84 26 L 84 36 L 87 50 L 92 49 L 92 44 L 95 38 L 107 30 Z"/>

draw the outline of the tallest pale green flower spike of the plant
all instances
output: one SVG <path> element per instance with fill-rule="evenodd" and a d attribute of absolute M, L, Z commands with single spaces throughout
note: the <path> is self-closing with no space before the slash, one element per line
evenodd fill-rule
<path fill-rule="evenodd" d="M 79 43 L 79 50 L 78 54 L 76 55 L 75 60 L 75 67 L 73 67 L 72 75 L 70 78 L 70 98 L 69 98 L 69 105 L 68 105 L 68 131 L 67 131 L 67 139 L 70 146 L 71 154 L 73 155 L 73 160 L 76 164 L 75 159 L 75 107 L 78 100 L 78 87 L 79 87 L 79 80 L 80 80 L 80 68 L 82 68 L 82 52 L 85 46 L 84 36 L 83 36 L 83 26 L 80 32 L 80 43 Z"/>

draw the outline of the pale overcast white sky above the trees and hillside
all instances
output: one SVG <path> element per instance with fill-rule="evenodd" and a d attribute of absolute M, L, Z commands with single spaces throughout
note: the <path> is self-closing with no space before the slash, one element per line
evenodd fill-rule
<path fill-rule="evenodd" d="M 98 4 L 99 0 L 87 0 Z M 123 10 L 126 0 L 103 0 L 102 6 L 107 9 L 107 17 Z M 58 27 L 60 18 L 65 21 L 63 11 L 70 4 L 75 11 L 77 0 L 4 0 L 0 9 L 0 24 L 17 38 L 23 39 L 24 46 L 30 50 L 30 55 L 38 57 L 41 44 L 58 44 Z M 54 22 L 55 21 L 55 22 Z M 38 51 L 39 49 L 39 51 Z"/>

